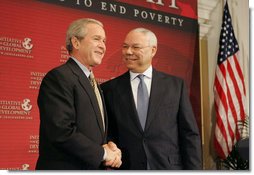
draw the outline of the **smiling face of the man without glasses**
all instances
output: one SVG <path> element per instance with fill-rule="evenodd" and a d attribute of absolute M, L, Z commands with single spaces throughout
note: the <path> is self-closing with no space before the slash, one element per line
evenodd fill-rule
<path fill-rule="evenodd" d="M 106 52 L 106 35 L 102 26 L 89 23 L 83 39 L 72 37 L 73 56 L 88 69 L 101 64 Z"/>

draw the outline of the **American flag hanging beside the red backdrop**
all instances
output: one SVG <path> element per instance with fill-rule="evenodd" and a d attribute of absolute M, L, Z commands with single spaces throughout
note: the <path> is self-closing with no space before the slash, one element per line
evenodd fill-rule
<path fill-rule="evenodd" d="M 245 86 L 238 62 L 239 46 L 234 35 L 231 16 L 226 2 L 220 33 L 214 97 L 216 126 L 214 145 L 218 156 L 226 159 L 240 139 L 239 121 L 245 120 Z"/>

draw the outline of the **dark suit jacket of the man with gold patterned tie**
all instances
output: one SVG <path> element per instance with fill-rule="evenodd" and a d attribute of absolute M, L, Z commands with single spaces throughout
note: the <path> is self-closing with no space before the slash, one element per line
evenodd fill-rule
<path fill-rule="evenodd" d="M 36 169 L 100 169 L 106 133 L 92 86 L 74 60 L 69 59 L 45 76 L 38 106 Z M 106 114 L 105 120 L 107 124 Z"/>

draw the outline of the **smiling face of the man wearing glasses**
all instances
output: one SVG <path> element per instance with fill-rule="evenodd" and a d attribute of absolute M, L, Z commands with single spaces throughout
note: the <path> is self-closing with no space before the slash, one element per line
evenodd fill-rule
<path fill-rule="evenodd" d="M 131 31 L 122 47 L 123 62 L 130 71 L 143 73 L 152 64 L 156 51 L 157 47 L 150 44 L 149 35 Z"/>

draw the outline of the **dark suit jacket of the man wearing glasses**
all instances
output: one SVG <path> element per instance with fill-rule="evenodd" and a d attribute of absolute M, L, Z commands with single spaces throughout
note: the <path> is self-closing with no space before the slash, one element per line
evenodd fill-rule
<path fill-rule="evenodd" d="M 109 136 L 123 152 L 122 169 L 201 169 L 201 142 L 184 81 L 153 70 L 142 130 L 129 72 L 101 85 Z"/>

